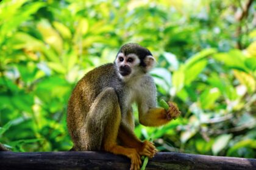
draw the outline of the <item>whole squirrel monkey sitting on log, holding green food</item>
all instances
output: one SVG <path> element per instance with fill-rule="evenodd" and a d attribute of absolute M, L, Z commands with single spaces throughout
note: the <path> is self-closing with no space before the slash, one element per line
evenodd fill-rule
<path fill-rule="evenodd" d="M 73 151 L 108 151 L 131 159 L 130 169 L 140 169 L 140 155 L 156 153 L 153 143 L 134 134 L 132 103 L 137 103 L 144 126 L 161 126 L 179 116 L 177 106 L 156 107 L 156 87 L 149 75 L 155 59 L 138 44 L 126 44 L 114 63 L 88 72 L 76 85 L 68 102 L 67 124 Z"/>

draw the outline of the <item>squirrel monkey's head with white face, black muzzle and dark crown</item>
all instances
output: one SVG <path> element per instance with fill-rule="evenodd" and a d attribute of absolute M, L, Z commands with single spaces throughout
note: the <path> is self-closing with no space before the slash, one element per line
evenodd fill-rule
<path fill-rule="evenodd" d="M 119 50 L 115 60 L 118 73 L 122 78 L 147 73 L 154 67 L 155 59 L 151 52 L 135 43 L 125 44 Z"/>

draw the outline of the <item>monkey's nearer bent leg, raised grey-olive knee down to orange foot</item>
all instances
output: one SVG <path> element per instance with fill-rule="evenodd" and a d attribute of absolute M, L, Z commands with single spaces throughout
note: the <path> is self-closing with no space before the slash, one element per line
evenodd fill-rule
<path fill-rule="evenodd" d="M 115 90 L 106 88 L 97 97 L 91 108 L 90 118 L 93 121 L 90 121 L 91 124 L 88 124 L 87 128 L 90 129 L 90 126 L 95 126 L 99 121 L 103 122 L 101 149 L 113 154 L 126 155 L 132 162 L 130 169 L 140 169 L 141 160 L 136 149 L 124 148 L 116 142 L 121 121 L 121 110 Z"/>

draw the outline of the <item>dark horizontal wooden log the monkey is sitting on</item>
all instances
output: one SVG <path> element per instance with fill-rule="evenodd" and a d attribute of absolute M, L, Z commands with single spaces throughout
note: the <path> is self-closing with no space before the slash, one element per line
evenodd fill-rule
<path fill-rule="evenodd" d="M 0 169 L 129 169 L 106 152 L 0 152 Z M 256 159 L 159 152 L 146 169 L 256 169 Z"/>

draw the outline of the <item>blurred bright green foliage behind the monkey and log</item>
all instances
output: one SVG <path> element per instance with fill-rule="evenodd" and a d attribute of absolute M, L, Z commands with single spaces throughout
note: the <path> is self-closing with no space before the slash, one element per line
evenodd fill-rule
<path fill-rule="evenodd" d="M 68 151 L 66 107 L 85 73 L 137 42 L 157 59 L 158 100 L 182 115 L 144 127 L 160 151 L 256 158 L 256 3 L 0 2 L 0 142 Z M 137 112 L 135 112 L 137 115 Z"/>

